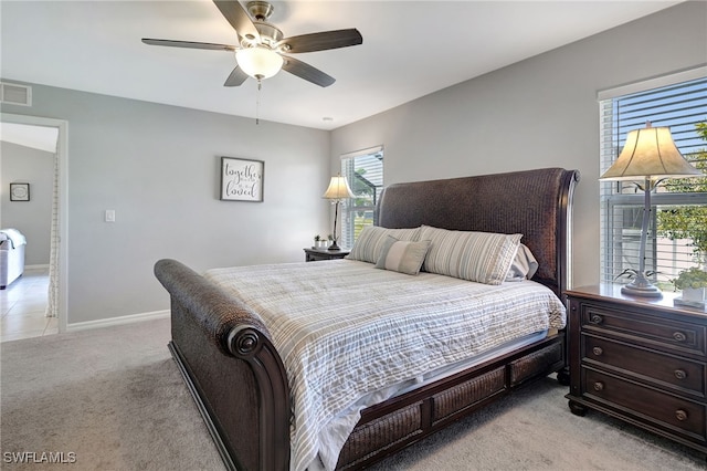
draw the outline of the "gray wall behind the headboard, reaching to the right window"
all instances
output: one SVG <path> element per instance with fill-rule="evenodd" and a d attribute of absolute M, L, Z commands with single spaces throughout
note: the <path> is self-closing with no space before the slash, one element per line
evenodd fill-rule
<path fill-rule="evenodd" d="M 386 185 L 579 169 L 573 282 L 597 283 L 597 92 L 705 62 L 707 2 L 683 3 L 336 129 L 331 165 L 338 155 L 382 143 Z"/>

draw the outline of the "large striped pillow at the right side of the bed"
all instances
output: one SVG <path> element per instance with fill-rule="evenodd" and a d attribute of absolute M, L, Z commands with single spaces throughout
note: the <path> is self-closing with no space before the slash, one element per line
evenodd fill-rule
<path fill-rule="evenodd" d="M 477 283 L 500 284 L 516 257 L 521 237 L 423 226 L 420 239 L 431 241 L 424 269 Z"/>

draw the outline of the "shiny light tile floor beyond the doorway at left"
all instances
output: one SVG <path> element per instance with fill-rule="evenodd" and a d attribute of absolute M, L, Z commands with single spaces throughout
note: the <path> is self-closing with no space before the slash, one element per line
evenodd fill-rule
<path fill-rule="evenodd" d="M 49 269 L 25 269 L 0 290 L 0 342 L 56 334 L 56 317 L 45 317 Z"/>

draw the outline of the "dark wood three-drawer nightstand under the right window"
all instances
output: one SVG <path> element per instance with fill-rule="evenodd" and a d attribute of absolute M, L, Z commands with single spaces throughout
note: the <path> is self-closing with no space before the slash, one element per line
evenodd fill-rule
<path fill-rule="evenodd" d="M 616 285 L 567 292 L 570 410 L 594 409 L 707 453 L 707 314 Z"/>

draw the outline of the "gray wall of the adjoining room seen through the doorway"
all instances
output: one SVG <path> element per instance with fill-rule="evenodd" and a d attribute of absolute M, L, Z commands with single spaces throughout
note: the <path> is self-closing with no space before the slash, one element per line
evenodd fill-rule
<path fill-rule="evenodd" d="M 11 182 L 29 182 L 29 201 L 10 201 Z M 54 154 L 0 142 L 0 226 L 28 239 L 25 265 L 49 264 Z"/>

